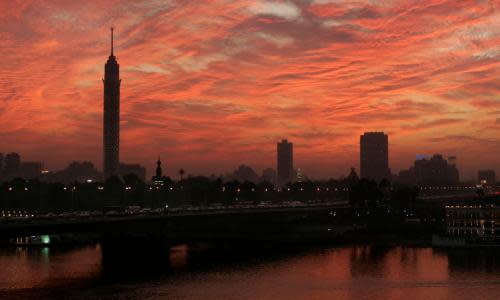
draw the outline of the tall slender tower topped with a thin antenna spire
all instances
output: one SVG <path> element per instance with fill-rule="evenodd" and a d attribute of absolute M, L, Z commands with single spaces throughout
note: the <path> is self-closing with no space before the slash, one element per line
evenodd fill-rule
<path fill-rule="evenodd" d="M 118 175 L 120 162 L 120 65 L 113 54 L 113 27 L 111 27 L 111 54 L 104 66 L 104 179 Z"/>

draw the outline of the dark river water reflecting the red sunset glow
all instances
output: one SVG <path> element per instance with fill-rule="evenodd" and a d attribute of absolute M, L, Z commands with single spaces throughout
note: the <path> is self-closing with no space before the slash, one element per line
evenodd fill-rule
<path fill-rule="evenodd" d="M 180 246 L 166 255 L 151 268 L 103 261 L 99 246 L 3 249 L 0 299 L 500 299 L 495 251 Z"/>

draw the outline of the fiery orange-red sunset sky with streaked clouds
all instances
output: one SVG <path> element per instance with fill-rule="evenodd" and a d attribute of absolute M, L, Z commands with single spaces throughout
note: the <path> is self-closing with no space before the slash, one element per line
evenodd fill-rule
<path fill-rule="evenodd" d="M 149 174 L 359 168 L 389 135 L 394 173 L 457 156 L 500 171 L 500 1 L 0 1 L 0 152 L 102 169 L 104 64 L 120 64 L 120 159 Z"/>

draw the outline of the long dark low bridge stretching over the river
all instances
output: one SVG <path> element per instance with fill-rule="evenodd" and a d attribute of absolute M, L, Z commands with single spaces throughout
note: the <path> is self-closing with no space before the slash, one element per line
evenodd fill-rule
<path fill-rule="evenodd" d="M 164 209 L 126 215 L 16 218 L 0 223 L 0 237 L 98 234 L 103 240 L 189 242 L 293 241 L 324 238 L 345 203 Z M 121 243 L 121 242 L 120 242 Z"/>

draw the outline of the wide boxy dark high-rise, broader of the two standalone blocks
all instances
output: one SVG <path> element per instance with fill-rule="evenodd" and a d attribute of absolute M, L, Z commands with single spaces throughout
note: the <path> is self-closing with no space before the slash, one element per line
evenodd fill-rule
<path fill-rule="evenodd" d="M 359 138 L 361 178 L 389 179 L 389 138 L 383 132 L 365 132 Z"/>

